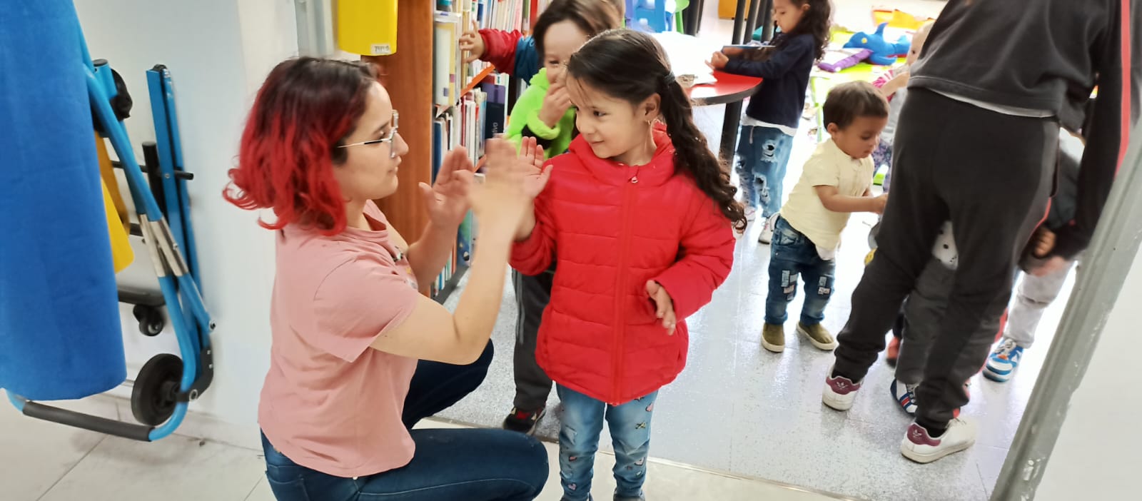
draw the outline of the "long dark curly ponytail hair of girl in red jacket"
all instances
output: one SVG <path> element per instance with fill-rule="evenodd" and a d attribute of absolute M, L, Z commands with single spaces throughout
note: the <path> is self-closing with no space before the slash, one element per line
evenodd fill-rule
<path fill-rule="evenodd" d="M 604 32 L 571 56 L 566 71 L 571 78 L 632 104 L 658 94 L 666 134 L 674 144 L 675 169 L 690 175 L 734 228 L 746 228 L 746 211 L 734 200 L 738 188 L 730 183 L 730 171 L 694 124 L 690 98 L 674 79 L 662 47 L 651 35 L 632 30 Z"/>

